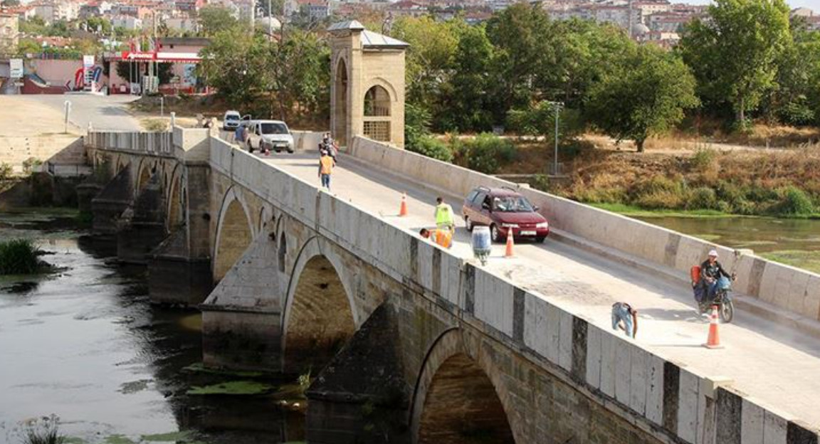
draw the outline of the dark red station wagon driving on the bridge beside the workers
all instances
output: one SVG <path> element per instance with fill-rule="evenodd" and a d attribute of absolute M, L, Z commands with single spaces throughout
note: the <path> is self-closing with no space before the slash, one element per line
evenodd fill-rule
<path fill-rule="evenodd" d="M 473 189 L 462 206 L 467 231 L 475 225 L 490 227 L 494 242 L 503 242 L 512 233 L 514 238 L 532 238 L 544 242 L 549 223 L 538 213 L 538 207 L 512 188 Z"/>

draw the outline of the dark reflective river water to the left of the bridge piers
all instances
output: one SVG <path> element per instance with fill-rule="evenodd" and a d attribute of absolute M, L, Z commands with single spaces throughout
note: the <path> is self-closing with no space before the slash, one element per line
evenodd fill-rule
<path fill-rule="evenodd" d="M 116 265 L 59 229 L 67 220 L 0 214 L 0 238 L 34 238 L 60 269 L 0 277 L 0 442 L 20 442 L 21 422 L 48 415 L 74 443 L 303 440 L 303 401 L 189 394 L 247 379 L 275 392 L 284 382 L 197 369 L 198 312 L 151 305 L 144 268 Z"/>

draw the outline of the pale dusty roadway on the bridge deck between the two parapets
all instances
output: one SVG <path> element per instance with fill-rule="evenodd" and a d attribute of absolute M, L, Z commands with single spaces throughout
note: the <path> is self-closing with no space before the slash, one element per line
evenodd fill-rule
<path fill-rule="evenodd" d="M 261 156 L 271 165 L 319 185 L 316 152 Z M 339 158 L 331 192 L 417 233 L 435 224 L 437 193 L 421 183 L 345 157 Z M 408 217 L 398 217 L 401 193 L 408 195 Z M 444 196 L 460 212 L 461 196 Z M 471 259 L 469 233 L 459 220 L 452 251 Z M 494 245 L 486 268 L 517 285 L 544 295 L 555 305 L 611 328 L 610 308 L 628 301 L 639 310 L 637 342 L 666 360 L 686 365 L 699 374 L 730 378 L 741 392 L 788 412 L 820 428 L 820 342 L 745 311 L 732 324 L 721 326 L 726 348 L 701 345 L 708 320 L 695 313 L 691 289 L 666 276 L 635 270 L 617 261 L 548 238 L 543 244 L 519 242 L 516 257 L 503 258 L 504 246 Z"/>

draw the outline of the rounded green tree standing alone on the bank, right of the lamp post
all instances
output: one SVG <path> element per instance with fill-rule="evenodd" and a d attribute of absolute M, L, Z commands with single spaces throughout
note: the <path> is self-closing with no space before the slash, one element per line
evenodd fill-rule
<path fill-rule="evenodd" d="M 695 77 L 683 61 L 642 46 L 618 72 L 590 88 L 586 110 L 599 129 L 618 140 L 634 139 L 643 152 L 649 136 L 671 129 L 698 105 Z"/>

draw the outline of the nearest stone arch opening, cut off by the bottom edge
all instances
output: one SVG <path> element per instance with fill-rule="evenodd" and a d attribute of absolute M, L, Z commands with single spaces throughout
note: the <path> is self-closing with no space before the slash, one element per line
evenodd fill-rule
<path fill-rule="evenodd" d="M 490 358 L 476 359 L 463 334 L 459 328 L 445 331 L 427 353 L 413 395 L 412 442 L 512 444 L 508 397 L 497 389 L 500 378 Z"/>

